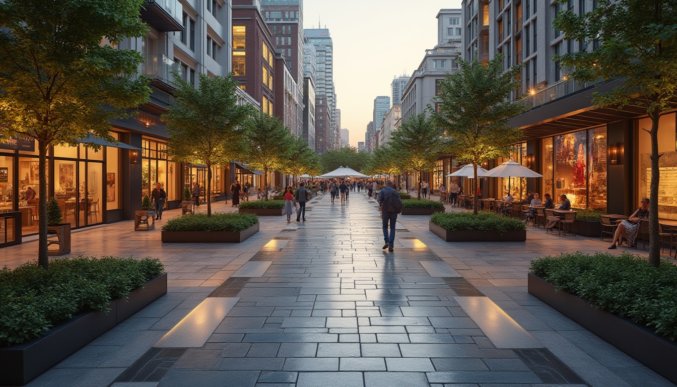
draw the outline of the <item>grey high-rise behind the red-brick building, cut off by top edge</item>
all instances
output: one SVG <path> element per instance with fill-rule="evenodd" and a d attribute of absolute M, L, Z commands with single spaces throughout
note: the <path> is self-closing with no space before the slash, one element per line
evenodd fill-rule
<path fill-rule="evenodd" d="M 261 0 L 263 20 L 297 84 L 303 84 L 303 0 Z"/>

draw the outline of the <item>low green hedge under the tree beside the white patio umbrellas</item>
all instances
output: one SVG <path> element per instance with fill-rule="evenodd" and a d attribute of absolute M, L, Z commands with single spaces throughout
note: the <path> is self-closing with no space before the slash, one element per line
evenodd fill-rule
<path fill-rule="evenodd" d="M 450 231 L 496 231 L 503 235 L 506 231 L 526 230 L 527 226 L 519 219 L 508 218 L 492 212 L 437 212 L 430 217 L 431 222 Z"/>

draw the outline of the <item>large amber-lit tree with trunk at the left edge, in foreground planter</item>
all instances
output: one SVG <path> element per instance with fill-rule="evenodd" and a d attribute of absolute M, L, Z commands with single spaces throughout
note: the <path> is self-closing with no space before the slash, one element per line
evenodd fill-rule
<path fill-rule="evenodd" d="M 0 2 L 0 134 L 37 143 L 38 262 L 47 268 L 47 151 L 104 138 L 110 120 L 148 100 L 138 76 L 140 53 L 117 49 L 143 37 L 143 0 L 5 0 Z M 102 41 L 106 44 L 102 44 Z M 105 108 L 104 108 L 105 106 Z M 98 150 L 100 146 L 88 145 Z"/>

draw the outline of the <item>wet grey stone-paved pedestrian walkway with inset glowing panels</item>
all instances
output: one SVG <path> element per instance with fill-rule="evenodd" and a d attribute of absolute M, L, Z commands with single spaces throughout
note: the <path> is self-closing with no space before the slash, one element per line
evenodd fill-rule
<path fill-rule="evenodd" d="M 306 217 L 241 245 L 116 234 L 167 264 L 169 293 L 29 386 L 672 386 L 526 292 L 530 258 L 598 241 L 452 244 L 400 216 L 389 253 L 357 192 Z"/>

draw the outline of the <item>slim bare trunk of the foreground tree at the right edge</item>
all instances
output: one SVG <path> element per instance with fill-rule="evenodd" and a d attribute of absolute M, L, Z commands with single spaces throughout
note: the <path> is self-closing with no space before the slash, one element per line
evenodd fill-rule
<path fill-rule="evenodd" d="M 649 113 L 651 117 L 651 191 L 649 193 L 649 264 L 658 267 L 661 264 L 661 249 L 658 225 L 658 187 L 661 171 L 658 161 L 658 120 L 659 112 Z"/>

